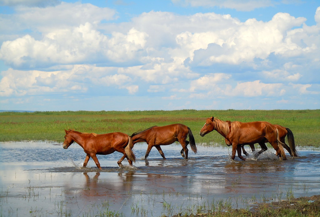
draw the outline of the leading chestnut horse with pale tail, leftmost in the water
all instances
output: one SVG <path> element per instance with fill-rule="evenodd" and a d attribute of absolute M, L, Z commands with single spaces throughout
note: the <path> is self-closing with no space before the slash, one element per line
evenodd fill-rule
<path fill-rule="evenodd" d="M 115 132 L 107 134 L 96 133 L 81 133 L 73 130 L 65 130 L 63 148 L 67 149 L 73 142 L 78 143 L 87 154 L 85 157 L 83 167 L 86 167 L 90 157 L 96 163 L 97 167 L 101 169 L 100 163 L 96 154 L 111 154 L 115 151 L 123 153 L 123 157 L 117 162 L 119 167 L 122 167 L 124 158 L 128 159 L 130 165 L 132 161 L 135 162 L 135 156 L 132 152 L 132 138 L 125 133 Z"/>

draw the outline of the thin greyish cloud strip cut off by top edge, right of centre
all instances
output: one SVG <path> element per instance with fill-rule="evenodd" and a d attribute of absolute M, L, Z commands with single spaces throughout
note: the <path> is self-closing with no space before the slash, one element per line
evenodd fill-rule
<path fill-rule="evenodd" d="M 174 4 L 192 7 L 220 7 L 236 9 L 237 11 L 253 11 L 256 8 L 270 7 L 274 5 L 270 0 L 172 0 Z"/>

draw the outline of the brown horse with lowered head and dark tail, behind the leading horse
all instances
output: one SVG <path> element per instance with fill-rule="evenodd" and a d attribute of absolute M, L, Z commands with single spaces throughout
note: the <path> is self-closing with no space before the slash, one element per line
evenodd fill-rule
<path fill-rule="evenodd" d="M 131 135 L 133 144 L 138 142 L 146 142 L 148 144 L 145 159 L 148 157 L 151 148 L 153 146 L 159 151 L 164 160 L 164 153 L 160 146 L 170 145 L 174 142 L 180 142 L 182 146 L 181 156 L 188 159 L 188 144 L 187 137 L 189 135 L 190 146 L 194 153 L 197 153 L 197 147 L 195 139 L 189 127 L 181 123 L 170 124 L 162 127 L 153 126 L 147 130 L 141 131 L 139 133 L 133 133 Z M 185 155 L 183 154 L 185 153 Z"/>

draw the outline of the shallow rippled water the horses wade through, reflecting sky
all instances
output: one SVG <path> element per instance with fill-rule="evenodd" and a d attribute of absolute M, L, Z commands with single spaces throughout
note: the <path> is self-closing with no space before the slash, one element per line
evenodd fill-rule
<path fill-rule="evenodd" d="M 92 159 L 81 167 L 77 144 L 2 142 L 1 215 L 171 216 L 320 194 L 320 150 L 298 148 L 300 157 L 287 161 L 273 150 L 232 161 L 227 146 L 197 146 L 188 160 L 180 144 L 162 146 L 165 161 L 155 148 L 144 160 L 146 144 L 136 144 L 134 166 L 125 160 L 119 168 L 121 153 L 98 155 L 100 171 Z"/>

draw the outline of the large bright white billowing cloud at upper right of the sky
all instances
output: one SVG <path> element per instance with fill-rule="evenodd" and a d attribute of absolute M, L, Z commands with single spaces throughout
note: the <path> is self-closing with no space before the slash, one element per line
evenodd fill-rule
<path fill-rule="evenodd" d="M 190 63 L 194 61 L 192 64 L 204 66 L 214 63 L 241 64 L 253 62 L 256 58 L 267 59 L 271 53 L 289 57 L 310 51 L 317 52 L 315 44 L 295 43 L 295 38 L 299 36 L 299 32 L 304 32 L 304 29 L 293 31 L 291 28 L 301 26 L 305 20 L 294 18 L 287 13 L 277 13 L 268 22 L 256 19 L 248 19 L 244 23 L 234 22 L 224 31 L 220 30 L 221 33 L 214 32 L 217 36 L 207 41 L 207 48 L 203 46 L 195 50 Z M 225 31 L 227 28 L 232 30 Z M 193 41 L 193 38 L 197 37 L 196 34 L 189 34 L 185 35 L 185 40 Z M 308 36 L 303 38 L 308 39 Z"/>

